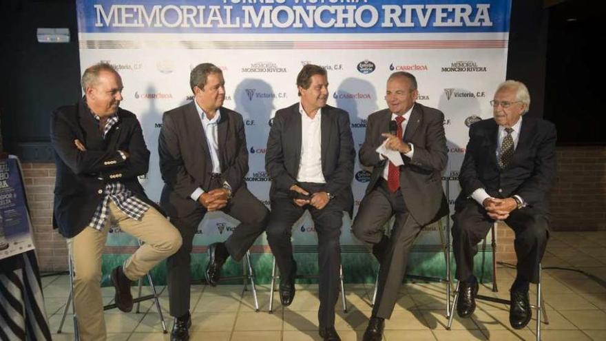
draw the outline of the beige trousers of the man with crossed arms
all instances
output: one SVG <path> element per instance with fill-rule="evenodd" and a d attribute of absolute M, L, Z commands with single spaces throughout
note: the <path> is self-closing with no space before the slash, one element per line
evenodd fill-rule
<path fill-rule="evenodd" d="M 145 244 L 123 265 L 124 274 L 131 280 L 144 276 L 158 262 L 171 256 L 181 247 L 179 231 L 154 207 L 134 220 L 109 201 L 109 217 L 102 231 L 85 227 L 74 238 L 67 239 L 67 248 L 74 265 L 74 302 L 80 338 L 83 341 L 103 341 L 106 338 L 101 298 L 101 254 L 107 231 L 118 225 Z"/>

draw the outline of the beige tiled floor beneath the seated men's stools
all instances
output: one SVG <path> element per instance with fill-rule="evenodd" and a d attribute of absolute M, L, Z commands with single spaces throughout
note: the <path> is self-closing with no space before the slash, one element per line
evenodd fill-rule
<path fill-rule="evenodd" d="M 606 231 L 554 233 L 543 259 L 543 267 L 571 267 L 591 273 L 587 276 L 558 269 L 543 271 L 543 295 L 550 324 L 543 324 L 543 340 L 606 340 Z M 488 285 L 481 293 L 508 299 L 514 271 L 500 267 L 497 272 L 500 291 L 492 293 Z M 600 282 L 601 281 L 601 282 Z M 43 278 L 46 311 L 56 333 L 68 294 L 67 276 Z M 532 286 L 531 291 L 534 291 Z M 168 308 L 168 294 L 163 287 L 160 304 Z M 193 326 L 191 340 L 320 340 L 317 336 L 316 285 L 301 285 L 291 307 L 282 308 L 278 300 L 273 314 L 267 313 L 269 289 L 258 287 L 261 310 L 253 309 L 250 292 L 240 296 L 241 286 L 194 286 L 191 288 Z M 346 285 L 348 312 L 337 303 L 335 327 L 343 340 L 362 340 L 370 315 L 371 285 Z M 454 319 L 446 330 L 446 286 L 434 283 L 402 285 L 401 299 L 386 323 L 384 340 L 534 340 L 534 322 L 526 329 L 512 330 L 508 307 L 479 302 L 472 318 Z M 534 293 L 533 293 L 534 294 Z M 103 289 L 111 302 L 113 289 Z M 531 300 L 533 298 L 531 297 Z M 533 316 L 534 317 L 534 316 Z M 171 318 L 165 313 L 167 327 Z M 151 301 L 141 304 L 141 313 L 106 311 L 109 340 L 169 340 L 162 333 L 160 320 Z M 53 340 L 72 340 L 73 327 L 68 314 L 63 333 Z"/>

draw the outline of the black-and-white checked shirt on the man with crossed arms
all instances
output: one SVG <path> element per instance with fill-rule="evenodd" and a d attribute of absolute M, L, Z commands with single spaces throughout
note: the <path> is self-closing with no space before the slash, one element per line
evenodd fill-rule
<path fill-rule="evenodd" d="M 97 121 L 100 121 L 99 116 L 93 115 Z M 105 138 L 107 132 L 112 129 L 112 126 L 114 126 L 116 122 L 118 122 L 118 116 L 115 114 L 107 119 L 107 123 L 105 123 L 105 128 L 103 129 L 103 138 Z M 120 154 L 125 158 L 125 155 L 122 152 L 120 152 Z M 149 209 L 149 205 L 134 196 L 122 183 L 107 183 L 103 194 L 103 201 L 97 206 L 97 209 L 88 224 L 90 227 L 98 229 L 99 231 L 105 226 L 105 220 L 107 220 L 107 216 L 109 215 L 109 199 L 118 206 L 118 209 L 134 220 L 141 220 L 145 211 Z"/>

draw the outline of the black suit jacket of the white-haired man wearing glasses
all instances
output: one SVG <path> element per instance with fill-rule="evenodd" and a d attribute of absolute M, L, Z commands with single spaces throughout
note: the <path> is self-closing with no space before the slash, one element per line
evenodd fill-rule
<path fill-rule="evenodd" d="M 458 210 L 476 189 L 494 198 L 519 195 L 530 207 L 547 213 L 547 192 L 556 172 L 556 127 L 525 114 L 512 161 L 502 171 L 497 164 L 499 126 L 488 118 L 471 125 L 469 143 L 459 173 Z"/>

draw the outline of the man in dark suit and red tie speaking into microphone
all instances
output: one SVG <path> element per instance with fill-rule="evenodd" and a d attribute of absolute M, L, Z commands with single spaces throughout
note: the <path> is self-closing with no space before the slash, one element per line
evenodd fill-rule
<path fill-rule="evenodd" d="M 373 167 L 373 174 L 352 230 L 373 248 L 381 264 L 376 303 L 364 340 L 382 340 L 384 320 L 393 312 L 412 242 L 425 225 L 448 214 L 441 183 L 448 161 L 444 114 L 415 103 L 418 94 L 415 76 L 391 74 L 385 94 L 388 109 L 368 116 L 366 138 L 359 150 L 360 163 Z M 396 125 L 395 132 L 390 132 L 390 125 Z M 383 144 L 399 152 L 404 165 L 397 167 L 379 154 L 377 147 Z M 395 222 L 387 238 L 383 227 L 392 216 Z"/>

